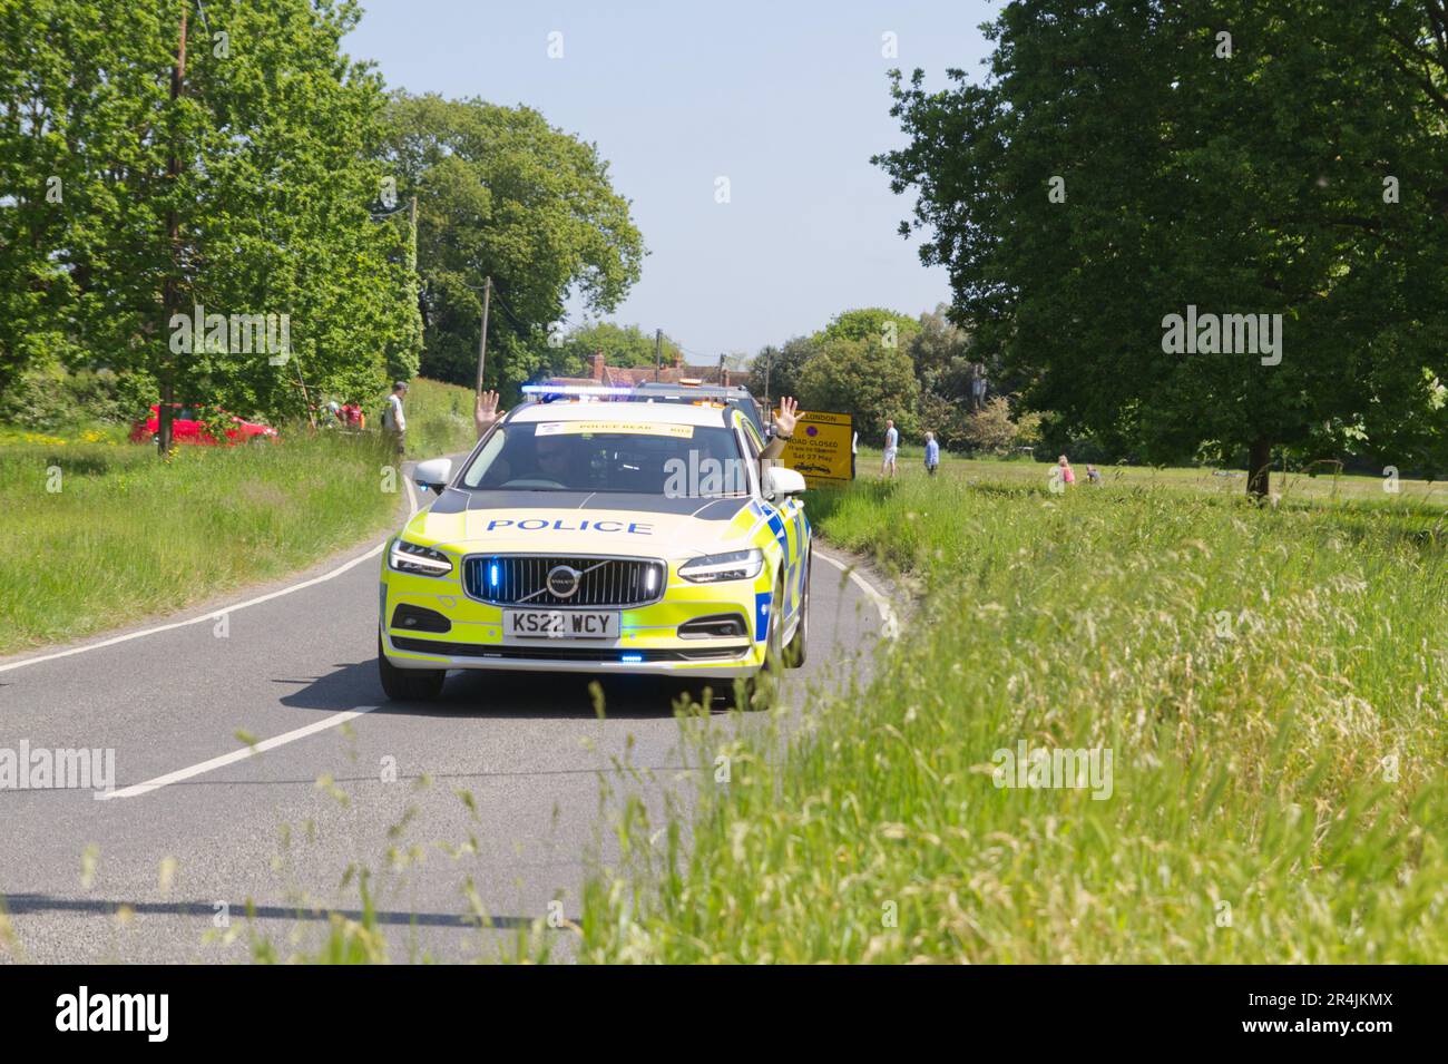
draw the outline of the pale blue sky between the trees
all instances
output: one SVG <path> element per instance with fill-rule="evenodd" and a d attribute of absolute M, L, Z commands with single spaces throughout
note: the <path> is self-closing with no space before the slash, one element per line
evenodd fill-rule
<path fill-rule="evenodd" d="M 529 104 L 598 145 L 650 255 L 611 314 L 691 355 L 753 355 L 850 307 L 948 298 L 870 155 L 902 143 L 886 71 L 979 77 L 998 4 L 363 0 L 345 46 L 390 87 Z M 563 56 L 549 58 L 562 33 Z M 898 58 L 882 55 L 893 33 Z M 556 41 L 556 39 L 555 39 Z M 727 177 L 730 203 L 715 203 Z M 573 321 L 579 317 L 576 308 Z"/>

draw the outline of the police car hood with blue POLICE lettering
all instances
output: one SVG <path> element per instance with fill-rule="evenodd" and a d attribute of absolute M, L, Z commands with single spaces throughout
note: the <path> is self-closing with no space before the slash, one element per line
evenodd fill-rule
<path fill-rule="evenodd" d="M 741 550 L 759 524 L 767 517 L 752 498 L 447 488 L 404 536 L 459 553 L 673 559 Z"/>

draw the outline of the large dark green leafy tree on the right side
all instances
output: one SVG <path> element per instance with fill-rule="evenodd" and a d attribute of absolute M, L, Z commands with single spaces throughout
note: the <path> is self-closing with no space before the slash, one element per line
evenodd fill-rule
<path fill-rule="evenodd" d="M 1448 347 L 1444 123 L 1425 110 L 1448 51 L 1412 7 L 1011 3 L 983 84 L 896 75 L 911 142 L 879 162 L 918 191 L 957 320 L 1057 430 L 1151 460 L 1245 449 L 1257 494 L 1274 444 L 1357 434 L 1429 462 Z M 1166 352 L 1189 304 L 1281 314 L 1280 362 Z"/>

